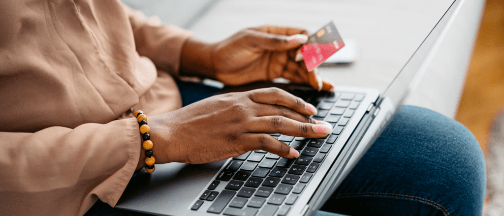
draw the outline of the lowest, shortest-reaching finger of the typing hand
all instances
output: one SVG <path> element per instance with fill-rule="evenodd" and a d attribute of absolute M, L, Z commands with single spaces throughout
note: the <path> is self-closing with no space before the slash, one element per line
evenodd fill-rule
<path fill-rule="evenodd" d="M 247 140 L 252 140 L 254 149 L 264 150 L 282 158 L 298 158 L 299 152 L 287 145 L 286 143 L 277 140 L 271 135 L 264 133 L 248 133 Z"/>

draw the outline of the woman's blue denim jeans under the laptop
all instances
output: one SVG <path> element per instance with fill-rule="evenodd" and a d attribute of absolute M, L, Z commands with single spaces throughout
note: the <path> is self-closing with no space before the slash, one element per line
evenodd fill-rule
<path fill-rule="evenodd" d="M 217 91 L 178 85 L 184 106 Z M 485 184 L 483 153 L 464 125 L 428 109 L 402 106 L 316 216 L 481 215 Z M 146 214 L 98 201 L 86 215 Z"/>

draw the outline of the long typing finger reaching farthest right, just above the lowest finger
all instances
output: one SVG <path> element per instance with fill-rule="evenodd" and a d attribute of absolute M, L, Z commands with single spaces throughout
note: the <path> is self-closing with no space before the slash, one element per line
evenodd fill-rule
<path fill-rule="evenodd" d="M 255 133 L 281 133 L 301 137 L 324 137 L 333 131 L 327 124 L 299 122 L 278 115 L 254 118 L 247 125 L 247 129 Z"/>

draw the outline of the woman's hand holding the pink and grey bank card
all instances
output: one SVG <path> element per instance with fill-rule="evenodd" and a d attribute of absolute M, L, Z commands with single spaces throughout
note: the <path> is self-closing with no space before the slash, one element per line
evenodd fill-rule
<path fill-rule="evenodd" d="M 331 91 L 330 81 L 322 81 L 317 71 L 307 71 L 304 61 L 296 59 L 307 35 L 303 29 L 262 26 L 241 30 L 213 44 L 190 39 L 182 50 L 181 71 L 211 77 L 226 85 L 282 77 L 319 91 Z"/>

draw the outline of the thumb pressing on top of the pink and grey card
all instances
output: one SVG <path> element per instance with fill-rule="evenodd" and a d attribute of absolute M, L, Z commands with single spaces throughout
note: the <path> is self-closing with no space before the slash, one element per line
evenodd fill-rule
<path fill-rule="evenodd" d="M 276 35 L 266 32 L 255 32 L 251 35 L 258 47 L 269 51 L 287 51 L 308 42 L 308 36 L 295 34 L 291 36 Z"/>

